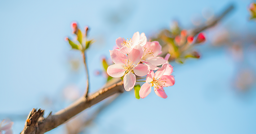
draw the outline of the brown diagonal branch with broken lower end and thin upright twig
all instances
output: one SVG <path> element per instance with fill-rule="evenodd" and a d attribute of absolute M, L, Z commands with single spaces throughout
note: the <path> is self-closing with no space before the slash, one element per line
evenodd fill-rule
<path fill-rule="evenodd" d="M 196 35 L 199 32 L 214 26 L 233 8 L 234 6 L 231 5 L 229 8 L 225 10 L 224 13 L 221 14 L 221 16 L 211 21 L 211 23 L 208 23 L 208 25 L 194 29 L 192 31 L 192 35 Z M 165 49 L 163 49 L 163 52 L 162 52 L 163 55 L 168 53 L 168 51 L 164 51 L 164 50 Z M 85 58 L 84 58 L 84 63 L 86 63 Z M 87 66 L 85 67 L 87 68 Z M 88 72 L 87 72 L 87 75 L 88 75 Z M 111 81 L 112 82 L 107 83 L 106 85 L 107 88 L 102 88 L 88 97 L 83 96 L 79 100 L 77 100 L 75 103 L 71 104 L 65 109 L 58 111 L 56 114 L 52 115 L 50 113 L 49 116 L 46 118 L 43 117 L 44 110 L 39 109 L 38 111 L 36 111 L 35 109 L 33 109 L 28 116 L 28 120 L 26 121 L 25 127 L 22 130 L 21 134 L 44 134 L 45 132 L 52 130 L 57 126 L 63 124 L 64 122 L 68 121 L 69 119 L 71 119 L 71 117 L 74 117 L 76 114 L 82 112 L 84 109 L 87 109 L 92 105 L 97 104 L 98 102 L 106 99 L 111 95 L 124 92 L 123 81 L 121 81 L 120 79 L 114 79 Z"/>

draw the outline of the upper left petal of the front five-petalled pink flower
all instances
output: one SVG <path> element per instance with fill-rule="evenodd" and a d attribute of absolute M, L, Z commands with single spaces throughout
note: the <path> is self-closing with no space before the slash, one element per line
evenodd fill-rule
<path fill-rule="evenodd" d="M 110 50 L 110 57 L 115 64 L 124 64 L 124 60 L 127 59 L 127 56 L 122 54 L 119 50 Z"/>

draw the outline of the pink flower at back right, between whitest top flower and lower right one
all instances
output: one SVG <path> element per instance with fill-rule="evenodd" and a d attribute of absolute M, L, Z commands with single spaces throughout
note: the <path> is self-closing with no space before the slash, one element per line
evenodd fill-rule
<path fill-rule="evenodd" d="M 143 55 L 141 57 L 141 61 L 150 67 L 151 70 L 157 70 L 163 63 L 166 63 L 162 57 L 157 57 L 162 53 L 162 46 L 159 42 L 147 42 L 143 47 Z"/>

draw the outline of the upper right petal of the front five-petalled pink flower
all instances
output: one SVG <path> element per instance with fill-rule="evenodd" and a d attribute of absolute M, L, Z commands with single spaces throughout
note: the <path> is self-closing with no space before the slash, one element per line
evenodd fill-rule
<path fill-rule="evenodd" d="M 143 55 L 143 49 L 141 46 L 135 46 L 132 51 L 128 54 L 128 59 L 131 59 L 132 63 L 140 63 Z"/>

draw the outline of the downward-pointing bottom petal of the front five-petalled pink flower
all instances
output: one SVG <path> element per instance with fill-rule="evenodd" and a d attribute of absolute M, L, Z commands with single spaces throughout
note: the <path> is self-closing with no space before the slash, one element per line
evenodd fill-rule
<path fill-rule="evenodd" d="M 124 75 L 124 89 L 126 91 L 131 91 L 136 83 L 136 76 L 130 71 Z"/>

